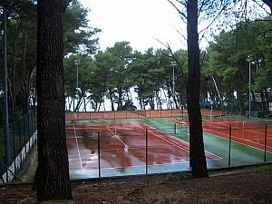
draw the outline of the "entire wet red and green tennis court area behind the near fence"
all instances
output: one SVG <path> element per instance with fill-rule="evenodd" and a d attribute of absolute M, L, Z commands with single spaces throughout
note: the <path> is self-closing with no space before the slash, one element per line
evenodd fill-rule
<path fill-rule="evenodd" d="M 271 121 L 201 113 L 209 169 L 272 161 Z M 66 136 L 72 179 L 189 170 L 187 110 L 67 112 Z"/>

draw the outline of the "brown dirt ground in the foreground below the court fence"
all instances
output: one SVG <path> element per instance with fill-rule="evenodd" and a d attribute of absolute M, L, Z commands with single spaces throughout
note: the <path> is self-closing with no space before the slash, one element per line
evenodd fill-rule
<path fill-rule="evenodd" d="M 175 173 L 73 181 L 73 203 L 272 203 L 272 171 L 186 177 Z M 0 203 L 36 203 L 35 191 L 29 184 L 0 186 Z"/>

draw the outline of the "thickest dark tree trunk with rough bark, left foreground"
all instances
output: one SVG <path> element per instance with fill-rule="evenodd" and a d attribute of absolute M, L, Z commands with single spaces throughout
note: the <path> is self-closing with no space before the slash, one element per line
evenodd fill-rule
<path fill-rule="evenodd" d="M 63 85 L 64 0 L 38 0 L 38 201 L 72 199 L 65 137 Z"/>

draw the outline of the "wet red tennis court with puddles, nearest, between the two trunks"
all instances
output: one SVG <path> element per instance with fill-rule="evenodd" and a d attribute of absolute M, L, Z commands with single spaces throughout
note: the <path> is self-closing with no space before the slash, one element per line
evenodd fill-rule
<path fill-rule="evenodd" d="M 66 124 L 73 179 L 141 174 L 189 166 L 189 144 L 141 121 Z M 207 160 L 219 156 L 206 151 Z M 152 167 L 152 168 L 151 168 Z"/>

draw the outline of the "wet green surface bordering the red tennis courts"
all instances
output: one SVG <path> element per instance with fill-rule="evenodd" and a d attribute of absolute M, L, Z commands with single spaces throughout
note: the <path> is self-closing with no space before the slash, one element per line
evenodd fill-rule
<path fill-rule="evenodd" d="M 119 120 L 83 120 L 83 121 L 66 121 L 69 123 L 87 123 L 92 125 L 92 123 L 104 123 L 104 122 L 128 122 L 128 121 L 140 121 L 152 128 L 165 132 L 181 141 L 189 142 L 189 128 L 182 126 L 180 124 L 174 123 L 174 121 L 179 121 L 179 118 L 141 118 L 141 119 L 119 119 Z M 183 119 L 183 120 L 186 120 Z M 229 141 L 228 139 L 221 138 L 217 135 L 213 135 L 204 131 L 204 143 L 205 151 L 209 151 L 211 154 L 215 155 L 217 159 L 207 160 L 209 169 L 218 169 L 233 166 L 244 166 L 249 164 L 257 164 L 272 161 L 272 153 L 269 151 L 260 150 L 248 145 L 238 143 L 236 141 L 231 141 L 230 143 L 230 158 L 229 158 Z M 170 163 L 160 163 L 154 165 L 148 165 L 148 173 L 158 173 L 158 172 L 170 172 L 179 170 L 189 170 L 189 160 L 185 162 L 170 162 Z M 83 175 L 77 170 L 70 170 L 73 172 L 74 178 L 83 178 Z M 86 171 L 85 171 L 86 172 Z M 89 171 L 90 173 L 91 171 Z M 88 172 L 87 172 L 88 173 Z M 97 170 L 94 170 L 87 177 L 96 177 Z M 143 166 L 131 166 L 131 167 L 116 167 L 116 168 L 104 168 L 101 170 L 102 177 L 112 177 L 119 175 L 133 175 L 133 174 L 144 174 L 146 169 Z M 79 174 L 79 175 L 77 175 Z"/>

